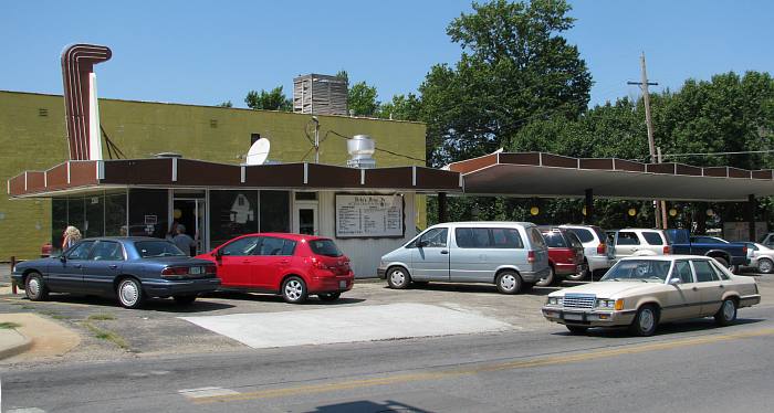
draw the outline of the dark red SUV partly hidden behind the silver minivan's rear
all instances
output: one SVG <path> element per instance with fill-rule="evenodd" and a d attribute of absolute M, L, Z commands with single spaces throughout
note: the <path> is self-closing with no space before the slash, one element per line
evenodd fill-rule
<path fill-rule="evenodd" d="M 548 286 L 562 282 L 565 275 L 583 271 L 584 250 L 580 240 L 572 231 L 561 227 L 541 226 L 541 233 L 548 245 L 551 272 L 536 285 Z"/>

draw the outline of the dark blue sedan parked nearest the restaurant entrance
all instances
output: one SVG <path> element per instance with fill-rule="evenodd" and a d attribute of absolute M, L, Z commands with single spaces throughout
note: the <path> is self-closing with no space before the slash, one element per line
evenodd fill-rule
<path fill-rule="evenodd" d="M 87 239 L 59 257 L 17 264 L 11 278 L 33 301 L 49 293 L 117 297 L 138 308 L 147 297 L 191 304 L 220 286 L 216 266 L 190 258 L 169 241 L 130 236 Z"/>

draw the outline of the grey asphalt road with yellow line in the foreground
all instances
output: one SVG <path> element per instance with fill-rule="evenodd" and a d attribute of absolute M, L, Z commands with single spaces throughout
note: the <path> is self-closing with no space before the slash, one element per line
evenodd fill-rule
<path fill-rule="evenodd" d="M 770 412 L 774 306 L 624 331 L 530 331 L 38 364 L 3 412 Z M 346 331 L 342 331 L 346 333 Z"/>

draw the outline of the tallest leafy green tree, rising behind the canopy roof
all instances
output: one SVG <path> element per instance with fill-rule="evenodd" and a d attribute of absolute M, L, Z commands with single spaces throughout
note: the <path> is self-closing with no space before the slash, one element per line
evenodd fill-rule
<path fill-rule="evenodd" d="M 491 152 L 533 119 L 583 113 L 592 77 L 561 35 L 569 10 L 564 0 L 494 0 L 449 24 L 460 61 L 431 67 L 419 87 L 432 166 Z"/>

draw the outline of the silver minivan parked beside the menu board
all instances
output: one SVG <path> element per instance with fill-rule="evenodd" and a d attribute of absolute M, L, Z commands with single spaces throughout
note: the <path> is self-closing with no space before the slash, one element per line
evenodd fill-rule
<path fill-rule="evenodd" d="M 531 222 L 447 222 L 384 255 L 377 274 L 391 288 L 489 283 L 515 294 L 548 274 L 548 248 Z"/>

